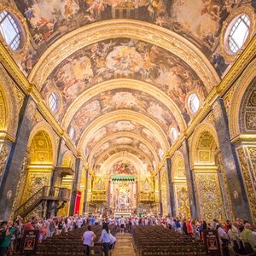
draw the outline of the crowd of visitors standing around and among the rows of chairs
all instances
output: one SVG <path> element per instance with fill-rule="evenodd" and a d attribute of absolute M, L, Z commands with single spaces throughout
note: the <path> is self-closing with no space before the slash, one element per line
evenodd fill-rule
<path fill-rule="evenodd" d="M 87 224 L 88 230 L 84 233 L 85 252 L 89 252 L 89 247 L 95 240 L 95 235 L 91 231 L 91 226 L 102 224 L 102 236 L 100 242 L 103 245 L 103 251 L 108 256 L 109 245 L 114 244 L 115 238 L 108 231 L 108 224 L 114 224 L 118 227 L 121 234 L 125 230 L 130 231 L 134 225 L 163 225 L 167 229 L 193 236 L 196 240 L 203 241 L 204 230 L 217 230 L 220 244 L 224 255 L 230 255 L 230 247 L 236 253 L 242 255 L 253 255 L 256 250 L 256 230 L 245 220 L 236 219 L 234 222 L 227 220 L 224 224 L 219 223 L 217 219 L 212 222 L 197 221 L 190 218 L 172 218 L 170 216 L 161 217 L 154 215 L 133 216 L 129 218 L 99 218 L 84 214 L 84 216 L 55 217 L 55 218 L 37 218 L 24 221 L 18 216 L 14 222 L 6 222 L 0 219 L 0 256 L 12 255 L 20 252 L 21 239 L 24 230 L 39 230 L 38 242 L 42 242 L 46 237 L 60 235 L 61 232 L 68 232 L 79 229 Z M 88 255 L 88 253 L 86 254 Z"/>

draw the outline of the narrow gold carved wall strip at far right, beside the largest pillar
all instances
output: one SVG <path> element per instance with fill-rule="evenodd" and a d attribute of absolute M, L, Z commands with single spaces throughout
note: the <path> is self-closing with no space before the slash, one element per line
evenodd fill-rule
<path fill-rule="evenodd" d="M 245 183 L 245 187 L 247 189 L 247 196 L 250 203 L 250 208 L 253 213 L 254 221 L 256 221 L 256 195 L 253 189 L 253 178 L 251 177 L 251 174 L 249 172 L 249 169 L 247 167 L 247 159 L 245 157 L 245 154 L 243 152 L 242 148 L 239 148 L 237 150 L 237 154 L 240 160 L 240 166 L 241 166 L 241 172 L 243 175 L 243 180 Z"/>

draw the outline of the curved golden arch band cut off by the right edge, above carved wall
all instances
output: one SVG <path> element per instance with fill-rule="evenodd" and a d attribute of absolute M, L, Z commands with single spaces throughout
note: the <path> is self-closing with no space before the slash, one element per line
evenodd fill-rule
<path fill-rule="evenodd" d="M 236 87 L 230 102 L 229 112 L 229 126 L 231 139 L 240 135 L 241 133 L 241 127 L 239 125 L 241 102 L 243 97 L 245 96 L 248 86 L 250 86 L 250 84 L 252 83 L 255 86 L 255 66 L 256 60 L 252 61 L 250 65 L 248 65 L 244 73 L 242 73 L 241 78 L 237 80 L 235 85 Z"/>

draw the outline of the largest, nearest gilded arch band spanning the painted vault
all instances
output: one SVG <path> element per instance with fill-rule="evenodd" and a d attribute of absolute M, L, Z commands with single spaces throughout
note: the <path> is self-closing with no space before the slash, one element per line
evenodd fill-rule
<path fill-rule="evenodd" d="M 49 46 L 32 69 L 28 79 L 32 84 L 37 85 L 38 90 L 41 90 L 51 70 L 76 50 L 108 38 L 124 37 L 142 40 L 173 52 L 195 70 L 208 91 L 219 83 L 218 74 L 207 57 L 194 44 L 165 28 L 127 19 L 99 21 L 69 32 Z"/>

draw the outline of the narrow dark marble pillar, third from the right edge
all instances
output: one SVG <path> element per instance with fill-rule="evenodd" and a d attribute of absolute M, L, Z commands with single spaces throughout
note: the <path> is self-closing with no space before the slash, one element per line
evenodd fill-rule
<path fill-rule="evenodd" d="M 166 158 L 166 177 L 167 177 L 167 200 L 169 202 L 169 212 L 174 217 L 175 212 L 175 198 L 174 198 L 174 188 L 172 184 L 172 161 L 171 158 Z"/>

